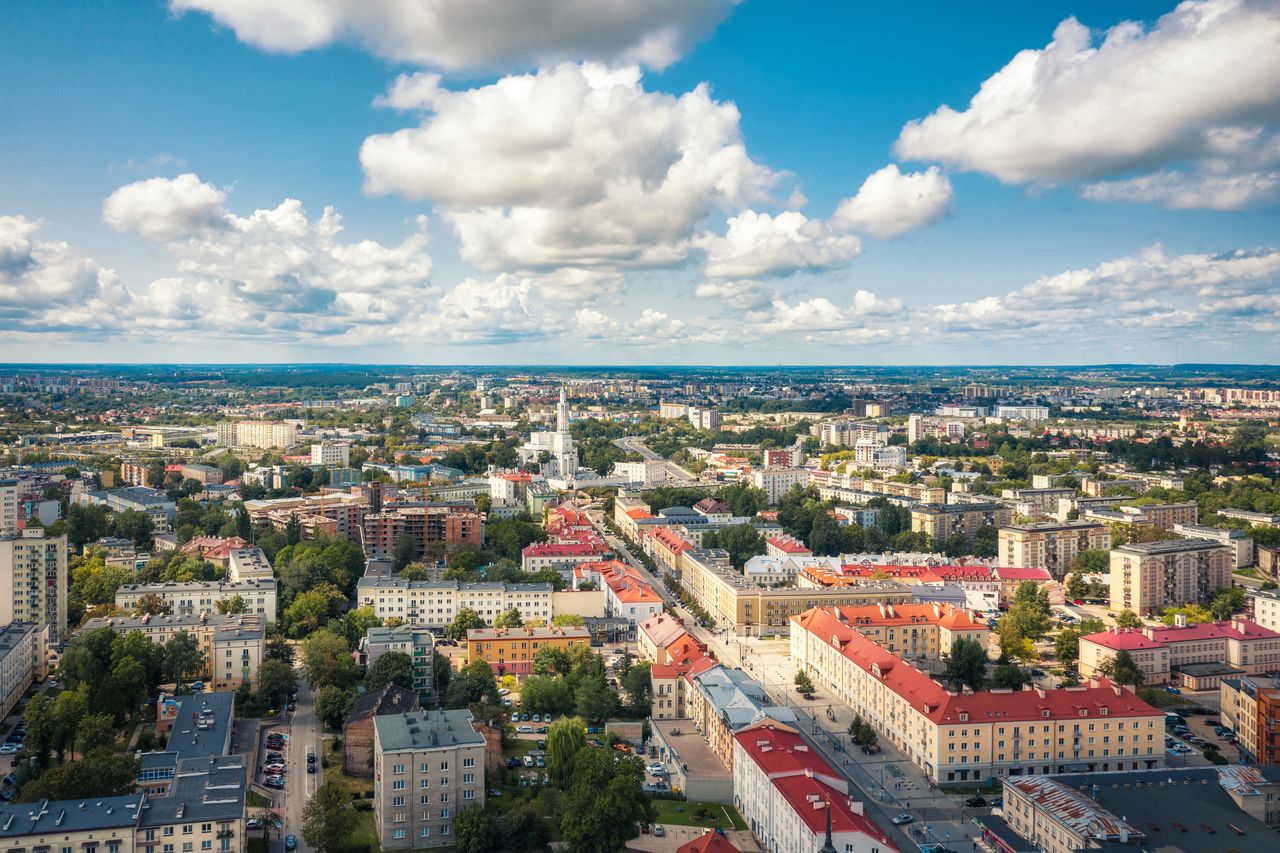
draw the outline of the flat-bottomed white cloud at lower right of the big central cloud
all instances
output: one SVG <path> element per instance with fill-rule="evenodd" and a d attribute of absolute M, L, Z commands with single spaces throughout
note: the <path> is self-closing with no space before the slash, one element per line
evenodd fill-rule
<path fill-rule="evenodd" d="M 847 264 L 861 251 L 852 234 L 831 231 L 826 223 L 788 210 L 777 216 L 744 210 L 728 220 L 723 237 L 704 234 L 712 278 L 763 278 L 800 270 L 826 270 Z"/>

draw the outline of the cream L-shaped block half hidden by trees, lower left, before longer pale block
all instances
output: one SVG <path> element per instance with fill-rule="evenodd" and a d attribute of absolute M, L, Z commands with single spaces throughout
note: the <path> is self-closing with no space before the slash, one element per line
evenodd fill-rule
<path fill-rule="evenodd" d="M 242 616 L 115 616 L 91 619 L 81 633 L 110 628 L 116 634 L 140 633 L 164 646 L 175 634 L 196 639 L 204 669 L 201 676 L 215 690 L 234 690 L 243 684 L 257 684 L 257 667 L 262 663 L 266 640 L 264 620 L 257 615 Z"/>

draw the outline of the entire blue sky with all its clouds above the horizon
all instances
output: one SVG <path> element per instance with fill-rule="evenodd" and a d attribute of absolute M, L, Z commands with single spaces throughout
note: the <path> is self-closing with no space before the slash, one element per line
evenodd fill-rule
<path fill-rule="evenodd" d="M 0 5 L 0 360 L 1280 362 L 1280 4 Z"/>

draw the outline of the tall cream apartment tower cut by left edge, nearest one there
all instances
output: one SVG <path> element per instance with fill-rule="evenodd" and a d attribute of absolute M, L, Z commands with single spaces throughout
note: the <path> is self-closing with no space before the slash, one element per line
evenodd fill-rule
<path fill-rule="evenodd" d="M 67 639 L 67 537 L 41 528 L 0 537 L 0 624 L 50 626 L 50 640 Z"/>

